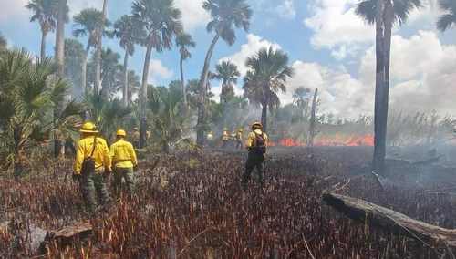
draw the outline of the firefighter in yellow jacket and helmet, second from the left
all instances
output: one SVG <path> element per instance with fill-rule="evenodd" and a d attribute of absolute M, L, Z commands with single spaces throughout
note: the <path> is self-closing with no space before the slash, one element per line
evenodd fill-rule
<path fill-rule="evenodd" d="M 127 137 L 125 130 L 119 129 L 116 135 L 117 141 L 110 147 L 112 165 L 114 168 L 114 186 L 119 193 L 122 180 L 125 180 L 127 191 L 132 194 L 135 185 L 133 172 L 134 168 L 138 166 L 138 160 L 136 159 L 133 145 L 125 140 L 125 137 Z"/>

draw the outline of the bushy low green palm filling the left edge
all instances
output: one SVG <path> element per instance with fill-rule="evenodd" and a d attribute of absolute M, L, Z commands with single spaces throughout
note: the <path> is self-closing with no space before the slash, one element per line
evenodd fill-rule
<path fill-rule="evenodd" d="M 75 129 L 80 106 L 66 103 L 67 83 L 55 78 L 49 58 L 35 60 L 25 51 L 7 52 L 0 59 L 0 157 L 23 170 L 26 151 L 51 138 L 51 132 Z M 61 108 L 61 109 L 57 109 Z"/>

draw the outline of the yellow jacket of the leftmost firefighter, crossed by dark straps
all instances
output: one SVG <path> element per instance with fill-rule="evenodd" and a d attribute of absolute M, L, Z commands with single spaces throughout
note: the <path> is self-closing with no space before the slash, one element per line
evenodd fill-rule
<path fill-rule="evenodd" d="M 87 159 L 93 150 L 94 137 L 86 137 L 78 141 L 78 148 L 76 149 L 75 173 L 80 174 L 82 169 L 82 162 Z M 93 159 L 95 161 L 95 171 L 102 171 L 104 168 L 111 170 L 111 157 L 109 154 L 108 144 L 106 140 L 97 137 L 97 146 L 93 152 Z"/>

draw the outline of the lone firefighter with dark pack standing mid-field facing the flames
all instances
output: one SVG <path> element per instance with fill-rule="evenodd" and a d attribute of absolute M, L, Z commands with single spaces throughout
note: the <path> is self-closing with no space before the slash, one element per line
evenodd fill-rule
<path fill-rule="evenodd" d="M 245 164 L 245 171 L 243 175 L 243 187 L 247 187 L 250 176 L 254 168 L 258 172 L 258 181 L 263 185 L 264 173 L 264 156 L 268 144 L 268 137 L 263 132 L 263 125 L 260 122 L 254 122 L 252 125 L 252 132 L 249 133 L 246 148 L 248 150 L 247 162 Z"/>

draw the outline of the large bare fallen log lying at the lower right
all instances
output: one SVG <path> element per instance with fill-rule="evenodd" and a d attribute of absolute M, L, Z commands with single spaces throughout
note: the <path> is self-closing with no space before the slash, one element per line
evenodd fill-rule
<path fill-rule="evenodd" d="M 456 248 L 456 230 L 423 223 L 374 203 L 335 193 L 323 194 L 323 201 L 350 219 L 403 234 L 420 242 L 442 242 Z"/>

